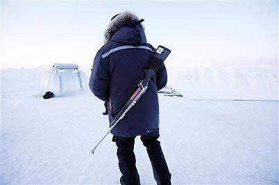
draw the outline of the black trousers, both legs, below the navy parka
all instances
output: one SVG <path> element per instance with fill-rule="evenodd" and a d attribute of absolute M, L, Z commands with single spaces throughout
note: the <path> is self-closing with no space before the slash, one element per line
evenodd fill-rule
<path fill-rule="evenodd" d="M 151 131 L 151 133 L 141 136 L 140 139 L 146 147 L 146 151 L 151 161 L 153 176 L 157 184 L 171 184 L 171 174 L 167 168 L 167 163 L 160 146 L 159 129 Z M 117 145 L 117 157 L 119 159 L 119 169 L 122 173 L 120 182 L 122 185 L 140 184 L 140 176 L 135 166 L 134 144 L 135 137 L 114 136 L 113 140 Z"/>

